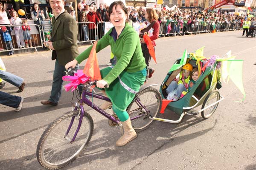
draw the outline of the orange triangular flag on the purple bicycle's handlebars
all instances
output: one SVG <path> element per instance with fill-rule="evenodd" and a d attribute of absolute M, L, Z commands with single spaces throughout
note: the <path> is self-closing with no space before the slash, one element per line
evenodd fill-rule
<path fill-rule="evenodd" d="M 90 55 L 84 65 L 83 73 L 91 77 L 93 80 L 101 80 L 102 78 L 99 72 L 99 63 L 96 55 L 96 45 L 97 41 L 93 44 L 93 48 L 90 51 Z"/>

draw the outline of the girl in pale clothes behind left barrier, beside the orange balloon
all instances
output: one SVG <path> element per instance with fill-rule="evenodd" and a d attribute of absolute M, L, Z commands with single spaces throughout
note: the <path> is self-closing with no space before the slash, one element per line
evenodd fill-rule
<path fill-rule="evenodd" d="M 25 42 L 23 40 L 23 34 L 21 26 L 15 26 L 15 25 L 21 25 L 21 20 L 18 17 L 18 14 L 16 11 L 12 11 L 12 17 L 10 19 L 10 23 L 14 25 L 14 32 L 16 37 L 16 42 L 18 48 L 25 48 Z"/>

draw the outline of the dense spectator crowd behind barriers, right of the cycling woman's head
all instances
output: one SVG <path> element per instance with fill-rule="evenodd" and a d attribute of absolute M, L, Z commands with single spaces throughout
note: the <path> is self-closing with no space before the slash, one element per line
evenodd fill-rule
<path fill-rule="evenodd" d="M 129 19 L 132 22 L 145 22 L 145 8 L 131 8 L 129 7 Z M 185 35 L 186 32 L 196 30 L 198 26 L 206 29 L 206 26 L 210 25 L 211 29 L 224 29 L 222 26 L 237 25 L 242 27 L 244 20 L 247 16 L 239 16 L 235 14 L 229 14 L 228 11 L 200 11 L 197 8 L 194 9 L 179 9 L 166 10 L 161 8 L 157 10 L 158 22 L 160 23 L 160 34 L 169 34 L 170 31 L 174 34 Z M 254 17 L 251 18 L 252 23 Z M 223 24 L 224 23 L 224 24 Z"/>

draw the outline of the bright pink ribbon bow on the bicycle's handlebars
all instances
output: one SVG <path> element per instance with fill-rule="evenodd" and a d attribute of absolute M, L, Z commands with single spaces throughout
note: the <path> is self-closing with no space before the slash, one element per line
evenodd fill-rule
<path fill-rule="evenodd" d="M 78 85 L 84 84 L 85 82 L 88 81 L 90 77 L 85 75 L 83 73 L 83 70 L 78 70 L 77 73 L 74 74 L 74 76 L 63 76 L 62 79 L 64 81 L 70 81 L 67 85 L 65 85 L 65 91 L 74 91 Z"/>

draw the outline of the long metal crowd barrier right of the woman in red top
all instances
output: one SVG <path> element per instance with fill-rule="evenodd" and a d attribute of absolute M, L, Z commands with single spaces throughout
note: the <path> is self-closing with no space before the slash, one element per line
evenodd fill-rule
<path fill-rule="evenodd" d="M 214 26 L 211 22 L 195 22 L 195 23 L 179 23 L 171 22 L 171 30 L 168 28 L 165 22 L 160 23 L 159 37 L 184 35 L 184 34 L 200 34 L 200 33 L 211 33 Z M 216 22 L 216 31 L 236 31 L 241 30 L 241 22 Z"/>

